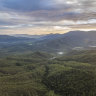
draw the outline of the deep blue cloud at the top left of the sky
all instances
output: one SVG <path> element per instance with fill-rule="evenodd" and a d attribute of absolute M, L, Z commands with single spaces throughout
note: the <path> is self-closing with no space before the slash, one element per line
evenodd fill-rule
<path fill-rule="evenodd" d="M 48 10 L 52 1 L 48 0 L 4 0 L 3 6 L 17 11 Z M 50 6 L 50 7 L 49 7 Z"/>

